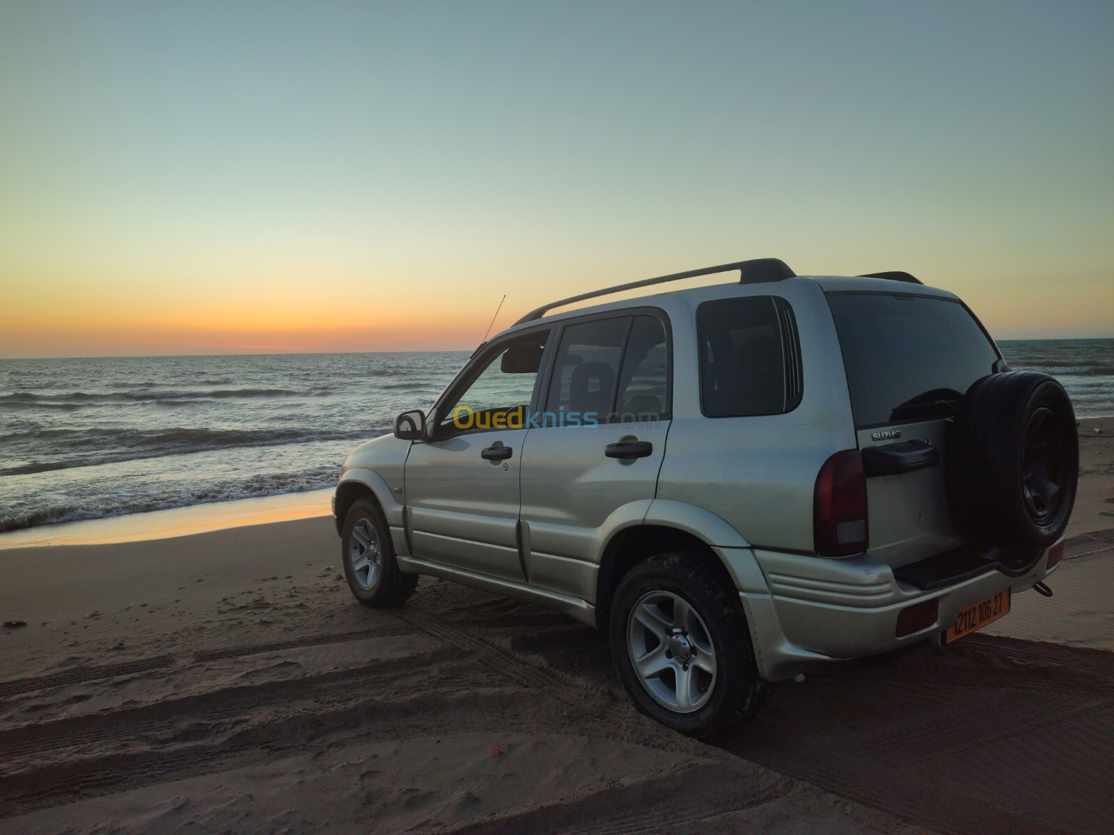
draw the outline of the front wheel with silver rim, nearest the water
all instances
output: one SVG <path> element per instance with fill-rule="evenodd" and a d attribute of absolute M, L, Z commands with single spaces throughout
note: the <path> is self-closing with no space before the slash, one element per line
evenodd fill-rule
<path fill-rule="evenodd" d="M 399 606 L 418 586 L 418 574 L 399 570 L 390 528 L 370 499 L 352 502 L 344 517 L 341 562 L 353 597 L 364 606 Z"/>

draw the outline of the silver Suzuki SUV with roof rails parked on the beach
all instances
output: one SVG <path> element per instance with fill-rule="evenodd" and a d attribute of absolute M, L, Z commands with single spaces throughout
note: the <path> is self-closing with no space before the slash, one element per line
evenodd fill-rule
<path fill-rule="evenodd" d="M 333 514 L 361 602 L 432 574 L 566 612 L 638 709 L 707 738 L 771 682 L 1046 591 L 1077 471 L 1064 390 L 956 296 L 762 258 L 532 311 L 352 451 Z"/>

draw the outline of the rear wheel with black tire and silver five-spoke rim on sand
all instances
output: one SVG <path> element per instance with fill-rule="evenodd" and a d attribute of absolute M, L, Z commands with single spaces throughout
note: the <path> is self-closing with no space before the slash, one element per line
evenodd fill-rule
<path fill-rule="evenodd" d="M 656 655 L 658 649 L 654 644 L 661 639 L 642 626 L 634 610 L 639 607 L 639 612 L 645 615 L 648 606 L 662 615 L 674 617 L 676 623 L 676 609 L 672 607 L 677 598 L 691 607 L 691 612 L 698 620 L 686 617 L 691 626 L 681 636 L 683 640 L 674 642 L 670 638 L 662 644 L 663 660 Z M 758 715 L 769 697 L 770 686 L 759 677 L 745 617 L 732 598 L 700 568 L 695 554 L 684 551 L 651 557 L 623 578 L 612 600 L 608 636 L 619 680 L 638 710 L 697 739 L 722 736 Z M 664 635 L 673 635 L 676 628 L 663 626 Z M 709 649 L 709 644 L 714 674 L 697 665 L 697 659 L 707 665 L 700 652 L 701 646 Z M 673 647 L 680 649 L 677 655 L 668 651 Z M 668 665 L 672 671 L 665 668 L 644 682 L 644 678 L 635 671 L 634 651 L 654 664 Z M 687 659 L 684 665 L 683 658 Z M 684 688 L 678 676 L 684 676 L 691 682 L 687 690 L 695 690 L 696 694 L 687 705 L 683 705 L 680 698 Z M 663 701 L 663 696 L 666 700 L 670 698 L 671 688 L 675 697 L 673 706 Z"/>

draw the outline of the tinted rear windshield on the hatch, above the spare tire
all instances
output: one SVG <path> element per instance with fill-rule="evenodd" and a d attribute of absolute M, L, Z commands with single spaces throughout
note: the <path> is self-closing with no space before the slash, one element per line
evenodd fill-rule
<path fill-rule="evenodd" d="M 851 409 L 860 429 L 947 418 L 998 353 L 959 302 L 832 293 Z"/>

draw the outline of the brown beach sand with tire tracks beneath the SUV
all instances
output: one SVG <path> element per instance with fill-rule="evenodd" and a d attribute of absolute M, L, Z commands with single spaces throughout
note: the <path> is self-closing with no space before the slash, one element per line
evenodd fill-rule
<path fill-rule="evenodd" d="M 1112 434 L 1081 424 L 1054 598 L 714 746 L 564 616 L 431 578 L 360 606 L 328 518 L 0 551 L 0 833 L 1110 832 Z"/>

